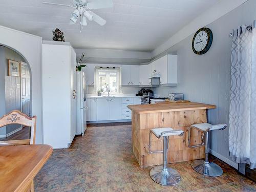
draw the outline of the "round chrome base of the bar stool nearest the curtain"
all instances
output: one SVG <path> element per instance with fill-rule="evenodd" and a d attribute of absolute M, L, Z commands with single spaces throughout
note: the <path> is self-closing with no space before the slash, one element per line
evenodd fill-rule
<path fill-rule="evenodd" d="M 210 177 L 218 177 L 223 174 L 222 168 L 213 162 L 206 163 L 204 160 L 195 160 L 191 163 L 191 167 L 196 172 Z"/>

